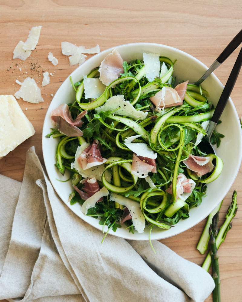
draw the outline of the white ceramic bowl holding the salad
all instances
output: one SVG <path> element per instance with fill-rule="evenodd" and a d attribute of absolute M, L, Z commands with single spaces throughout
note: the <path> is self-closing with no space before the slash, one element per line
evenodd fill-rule
<path fill-rule="evenodd" d="M 136 58 L 142 59 L 142 54 L 144 52 L 159 53 L 161 56 L 166 56 L 172 61 L 177 59 L 173 71 L 173 75 L 176 76 L 177 82 L 180 80 L 189 80 L 190 82 L 194 82 L 195 80 L 198 80 L 208 69 L 203 63 L 198 59 L 195 59 L 193 56 L 166 45 L 154 43 L 132 43 L 117 46 L 116 49 L 127 62 Z M 77 67 L 77 69 L 71 74 L 73 82 L 75 83 L 80 79 L 83 79 L 83 75 L 89 74 L 93 68 L 100 66 L 101 61 L 112 50 L 113 48 L 104 50 L 88 59 L 81 66 Z M 212 101 L 213 104 L 216 105 L 223 90 L 221 82 L 214 74 L 211 74 L 208 79 L 203 82 L 202 87 L 210 93 L 209 101 Z M 70 205 L 70 203 L 67 203 L 69 194 L 73 188 L 71 186 L 71 182 L 59 182 L 56 180 L 56 178 L 69 178 L 68 172 L 66 172 L 64 177 L 62 177 L 54 166 L 58 139 L 53 139 L 52 137 L 47 139 L 45 137 L 52 127 L 50 119 L 51 111 L 62 103 L 70 103 L 74 100 L 75 93 L 68 76 L 54 95 L 44 120 L 42 147 L 45 167 L 54 189 L 63 202 L 80 218 L 101 230 L 102 226 L 98 224 L 98 219 L 84 215 L 79 204 Z M 203 198 L 200 206 L 191 209 L 189 213 L 190 217 L 188 219 L 180 220 L 169 230 L 154 228 L 151 233 L 151 239 L 163 239 L 174 236 L 196 225 L 211 213 L 231 188 L 240 167 L 242 154 L 240 121 L 231 99 L 229 99 L 226 105 L 221 116 L 221 120 L 222 123 L 217 126 L 217 129 L 220 133 L 223 133 L 225 137 L 221 140 L 221 145 L 216 150 L 217 155 L 220 156 L 224 162 L 224 168 L 221 175 L 214 182 L 208 184 L 207 196 Z M 107 230 L 107 226 L 105 230 Z M 131 234 L 128 230 L 125 230 L 124 227 L 117 229 L 116 232 L 110 230 L 109 233 L 134 240 L 147 240 L 149 237 L 147 228 L 144 233 L 135 232 L 134 234 Z"/>

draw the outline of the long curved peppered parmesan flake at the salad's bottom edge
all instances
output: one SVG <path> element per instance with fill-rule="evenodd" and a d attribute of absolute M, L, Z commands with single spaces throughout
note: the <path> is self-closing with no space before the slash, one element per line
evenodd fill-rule
<path fill-rule="evenodd" d="M 123 206 L 127 207 L 129 210 L 129 213 L 132 217 L 132 223 L 134 225 L 134 228 L 138 233 L 143 233 L 144 228 L 146 226 L 145 217 L 142 214 L 142 211 L 140 209 L 139 203 L 136 201 L 133 201 L 129 198 L 126 198 L 122 195 L 111 193 L 110 194 L 110 200 L 116 201 L 119 204 L 122 204 Z"/>

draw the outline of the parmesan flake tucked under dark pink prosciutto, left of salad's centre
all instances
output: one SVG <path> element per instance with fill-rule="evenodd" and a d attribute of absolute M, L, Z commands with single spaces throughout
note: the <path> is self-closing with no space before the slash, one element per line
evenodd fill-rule
<path fill-rule="evenodd" d="M 90 146 L 89 143 L 82 143 L 81 146 L 77 147 L 75 161 L 71 163 L 71 169 L 73 169 L 73 168 L 76 169 L 80 173 L 80 175 L 84 178 L 95 177 L 97 180 L 99 180 L 101 182 L 102 174 L 103 174 L 103 171 L 105 170 L 104 164 L 97 165 L 95 167 L 83 170 L 77 161 L 78 157 L 88 146 Z M 111 173 L 109 171 L 105 171 L 105 178 L 108 182 L 111 182 L 111 177 L 112 177 Z"/>

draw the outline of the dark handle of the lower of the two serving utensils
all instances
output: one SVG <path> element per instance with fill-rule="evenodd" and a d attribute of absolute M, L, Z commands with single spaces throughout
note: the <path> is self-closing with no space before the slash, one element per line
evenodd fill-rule
<path fill-rule="evenodd" d="M 227 80 L 227 83 L 225 84 L 224 90 L 219 98 L 219 101 L 217 103 L 217 106 L 215 108 L 213 117 L 211 118 L 211 121 L 213 121 L 214 123 L 217 123 L 222 112 L 224 111 L 225 105 L 228 101 L 228 98 L 231 95 L 231 92 L 234 88 L 234 84 L 237 80 L 237 77 L 239 75 L 240 72 L 240 68 L 242 65 L 242 48 L 240 50 L 240 53 L 234 63 L 234 67 L 229 75 L 229 78 Z"/>

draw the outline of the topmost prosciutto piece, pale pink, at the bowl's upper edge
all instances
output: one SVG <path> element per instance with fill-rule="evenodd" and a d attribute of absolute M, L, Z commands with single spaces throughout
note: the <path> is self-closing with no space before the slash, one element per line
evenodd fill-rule
<path fill-rule="evenodd" d="M 116 48 L 103 59 L 98 71 L 100 81 L 106 86 L 118 79 L 119 73 L 124 73 L 123 59 Z"/>

